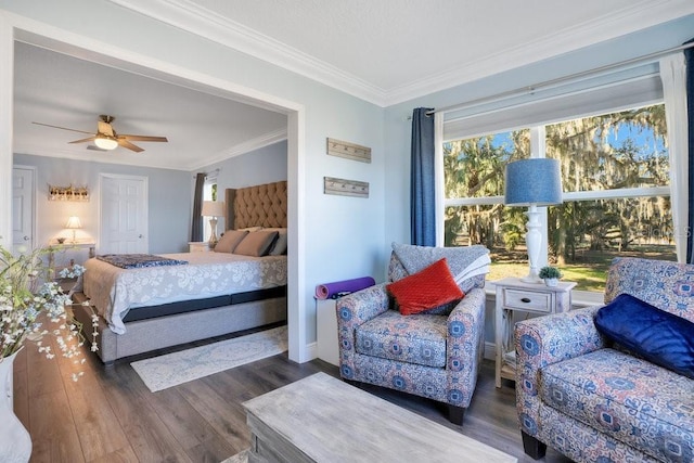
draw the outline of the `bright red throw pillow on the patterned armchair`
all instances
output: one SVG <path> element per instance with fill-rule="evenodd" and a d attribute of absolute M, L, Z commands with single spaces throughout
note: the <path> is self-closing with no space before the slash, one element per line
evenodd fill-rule
<path fill-rule="evenodd" d="M 386 288 L 395 297 L 403 316 L 434 309 L 465 296 L 455 284 L 446 258 L 386 285 Z"/>

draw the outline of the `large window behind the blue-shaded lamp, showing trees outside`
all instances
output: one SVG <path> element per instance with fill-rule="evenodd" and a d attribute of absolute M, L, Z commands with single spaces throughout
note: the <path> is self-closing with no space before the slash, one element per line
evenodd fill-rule
<path fill-rule="evenodd" d="M 602 291 L 616 256 L 676 260 L 664 104 L 444 143 L 445 245 L 480 243 L 489 280 L 527 274 L 522 207 L 503 206 L 505 165 L 560 159 L 564 203 L 547 208 L 548 261 Z"/>

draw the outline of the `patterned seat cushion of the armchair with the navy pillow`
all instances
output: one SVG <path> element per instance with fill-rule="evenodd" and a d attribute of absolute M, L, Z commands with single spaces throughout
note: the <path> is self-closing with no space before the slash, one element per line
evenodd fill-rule
<path fill-rule="evenodd" d="M 544 366 L 544 403 L 660 461 L 694 459 L 694 381 L 614 349 Z"/>

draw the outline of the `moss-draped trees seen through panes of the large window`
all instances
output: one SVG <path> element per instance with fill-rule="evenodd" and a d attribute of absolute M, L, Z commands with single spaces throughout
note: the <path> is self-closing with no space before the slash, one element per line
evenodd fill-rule
<path fill-rule="evenodd" d="M 545 155 L 561 160 L 565 192 L 667 185 L 665 137 L 664 105 L 646 106 L 545 126 Z M 505 165 L 530 155 L 529 130 L 449 142 L 444 151 L 446 197 L 502 196 Z M 449 207 L 446 244 L 516 249 L 523 213 L 500 204 Z M 672 233 L 667 197 L 567 202 L 548 214 L 551 260 L 561 265 L 578 262 L 584 250 L 624 252 Z"/>

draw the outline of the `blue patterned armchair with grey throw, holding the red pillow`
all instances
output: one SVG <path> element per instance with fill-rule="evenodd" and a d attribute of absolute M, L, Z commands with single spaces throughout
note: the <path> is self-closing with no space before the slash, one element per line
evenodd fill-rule
<path fill-rule="evenodd" d="M 346 381 L 447 403 L 449 420 L 462 425 L 484 351 L 487 248 L 394 244 L 388 282 L 414 274 L 441 257 L 465 293 L 458 304 L 403 316 L 389 298 L 387 283 L 337 300 L 339 371 Z"/>

